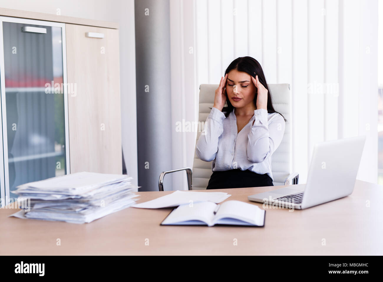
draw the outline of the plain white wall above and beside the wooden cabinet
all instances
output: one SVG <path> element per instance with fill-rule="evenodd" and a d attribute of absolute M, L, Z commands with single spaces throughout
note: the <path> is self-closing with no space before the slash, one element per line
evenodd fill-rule
<path fill-rule="evenodd" d="M 134 0 L 0 0 L 1 8 L 57 13 L 119 23 L 121 126 L 126 170 L 137 185 L 136 51 Z"/>

